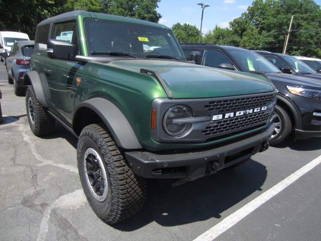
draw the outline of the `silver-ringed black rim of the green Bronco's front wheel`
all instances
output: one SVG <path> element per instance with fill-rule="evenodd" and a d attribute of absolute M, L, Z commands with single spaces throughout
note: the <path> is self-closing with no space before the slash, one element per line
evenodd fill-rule
<path fill-rule="evenodd" d="M 107 198 L 108 183 L 106 170 L 99 154 L 92 148 L 88 148 L 84 156 L 85 177 L 93 196 L 103 202 Z"/>

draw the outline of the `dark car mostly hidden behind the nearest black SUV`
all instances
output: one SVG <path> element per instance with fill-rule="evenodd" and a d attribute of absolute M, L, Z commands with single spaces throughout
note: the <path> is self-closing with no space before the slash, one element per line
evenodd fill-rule
<path fill-rule="evenodd" d="M 321 74 L 317 73 L 314 69 L 293 56 L 271 53 L 267 51 L 254 52 L 262 55 L 264 58 L 274 64 L 279 70 L 281 70 L 282 73 L 303 75 L 309 78 L 321 79 Z"/>

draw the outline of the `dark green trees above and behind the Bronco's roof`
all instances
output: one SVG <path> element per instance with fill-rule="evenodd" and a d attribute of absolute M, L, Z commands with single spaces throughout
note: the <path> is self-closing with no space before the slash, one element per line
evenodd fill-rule
<path fill-rule="evenodd" d="M 23 32 L 34 39 L 37 24 L 41 21 L 73 10 L 158 22 L 162 17 L 155 10 L 159 2 L 160 0 L 2 0 L 0 31 Z"/>

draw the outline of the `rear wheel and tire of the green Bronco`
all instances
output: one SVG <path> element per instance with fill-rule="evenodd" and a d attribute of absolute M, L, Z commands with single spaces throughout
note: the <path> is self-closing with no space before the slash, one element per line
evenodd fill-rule
<path fill-rule="evenodd" d="M 30 129 L 36 136 L 45 136 L 54 132 L 55 119 L 36 99 L 32 86 L 29 86 L 26 92 L 26 109 Z"/>

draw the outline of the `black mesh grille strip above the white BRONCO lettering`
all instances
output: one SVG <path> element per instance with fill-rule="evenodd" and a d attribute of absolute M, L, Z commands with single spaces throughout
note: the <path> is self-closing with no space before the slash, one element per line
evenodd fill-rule
<path fill-rule="evenodd" d="M 214 113 L 232 112 L 258 106 L 269 105 L 273 98 L 273 94 L 268 94 L 261 96 L 217 100 L 209 102 L 209 104 L 205 105 L 205 108 L 208 111 L 214 111 Z"/>

